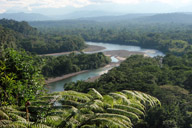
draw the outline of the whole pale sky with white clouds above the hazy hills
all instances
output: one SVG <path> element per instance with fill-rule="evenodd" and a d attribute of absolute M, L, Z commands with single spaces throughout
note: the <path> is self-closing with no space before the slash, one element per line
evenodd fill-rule
<path fill-rule="evenodd" d="M 124 13 L 192 12 L 192 0 L 0 0 L 0 13 L 67 13 L 97 10 Z"/>

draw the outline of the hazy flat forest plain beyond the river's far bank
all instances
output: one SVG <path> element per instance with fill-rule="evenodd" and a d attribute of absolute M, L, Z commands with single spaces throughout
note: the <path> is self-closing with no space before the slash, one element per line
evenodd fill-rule
<path fill-rule="evenodd" d="M 190 24 L 123 21 L 106 23 L 84 20 L 31 24 L 45 33 L 80 35 L 86 41 L 136 45 L 176 55 L 183 55 L 192 50 Z"/>

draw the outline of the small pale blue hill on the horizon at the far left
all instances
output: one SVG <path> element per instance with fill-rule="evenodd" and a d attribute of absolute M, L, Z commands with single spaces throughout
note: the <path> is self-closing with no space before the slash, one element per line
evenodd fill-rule
<path fill-rule="evenodd" d="M 0 14 L 0 19 L 12 19 L 17 21 L 43 21 L 51 18 L 38 13 L 3 13 Z"/>

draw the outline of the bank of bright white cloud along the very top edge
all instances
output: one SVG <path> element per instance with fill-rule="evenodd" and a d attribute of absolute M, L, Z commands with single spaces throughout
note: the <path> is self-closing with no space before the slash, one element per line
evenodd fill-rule
<path fill-rule="evenodd" d="M 37 8 L 61 8 L 66 6 L 73 6 L 76 8 L 84 7 L 91 4 L 115 3 L 115 4 L 142 4 L 160 2 L 173 7 L 183 7 L 192 0 L 0 0 L 0 13 L 5 12 L 11 8 L 24 8 L 27 11 L 32 11 Z"/>

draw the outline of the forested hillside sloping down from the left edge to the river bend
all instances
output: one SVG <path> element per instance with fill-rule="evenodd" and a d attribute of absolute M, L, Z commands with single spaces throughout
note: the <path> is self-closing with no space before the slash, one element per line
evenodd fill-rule
<path fill-rule="evenodd" d="M 0 20 L 0 46 L 37 54 L 76 51 L 85 48 L 80 36 L 42 34 L 27 22 Z"/>

